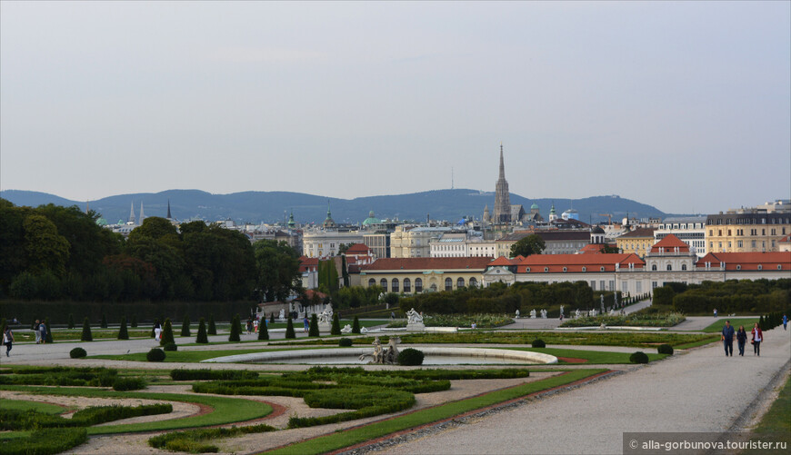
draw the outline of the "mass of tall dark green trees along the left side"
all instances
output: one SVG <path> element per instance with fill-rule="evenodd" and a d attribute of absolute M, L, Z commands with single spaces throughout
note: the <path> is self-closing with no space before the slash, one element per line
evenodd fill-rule
<path fill-rule="evenodd" d="M 0 297 L 89 302 L 285 300 L 296 252 L 204 222 L 146 218 L 128 239 L 98 213 L 0 200 Z"/>

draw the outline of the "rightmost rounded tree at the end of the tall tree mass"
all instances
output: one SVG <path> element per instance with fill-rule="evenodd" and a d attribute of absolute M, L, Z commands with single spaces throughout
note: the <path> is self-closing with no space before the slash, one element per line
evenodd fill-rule
<path fill-rule="evenodd" d="M 266 302 L 284 302 L 299 279 L 299 260 L 286 242 L 259 240 L 253 243 L 258 269 L 256 284 Z"/>

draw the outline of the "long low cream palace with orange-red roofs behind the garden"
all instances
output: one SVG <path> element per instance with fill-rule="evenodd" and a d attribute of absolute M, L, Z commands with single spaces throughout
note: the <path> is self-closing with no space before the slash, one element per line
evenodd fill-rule
<path fill-rule="evenodd" d="M 673 234 L 646 252 L 534 254 L 526 258 L 378 259 L 360 267 L 360 283 L 387 292 L 452 291 L 495 282 L 587 282 L 596 291 L 652 292 L 666 282 L 791 278 L 791 252 L 709 252 L 694 249 Z"/>

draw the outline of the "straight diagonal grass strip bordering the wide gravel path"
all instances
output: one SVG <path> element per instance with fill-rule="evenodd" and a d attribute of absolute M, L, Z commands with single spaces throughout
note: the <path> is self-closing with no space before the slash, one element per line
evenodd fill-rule
<path fill-rule="evenodd" d="M 396 431 L 426 425 L 427 423 L 432 423 L 437 420 L 448 419 L 470 410 L 478 410 L 503 401 L 524 397 L 530 393 L 545 391 L 553 387 L 579 381 L 605 371 L 606 370 L 602 369 L 568 371 L 566 374 L 560 376 L 553 376 L 541 381 L 528 382 L 502 391 L 491 391 L 477 397 L 449 402 L 426 410 L 417 410 L 393 419 L 378 421 L 370 425 L 321 436 L 313 440 L 297 442 L 280 449 L 266 451 L 266 453 L 278 455 L 309 455 L 339 450 L 359 444 L 360 442 L 365 442 L 366 440 L 380 438 L 395 433 Z"/>

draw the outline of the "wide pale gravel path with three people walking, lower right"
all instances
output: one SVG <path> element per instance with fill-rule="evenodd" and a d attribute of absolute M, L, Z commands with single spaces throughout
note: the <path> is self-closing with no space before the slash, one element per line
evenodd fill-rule
<path fill-rule="evenodd" d="M 791 359 L 791 331 L 765 335 L 760 357 L 716 343 L 382 451 L 621 453 L 624 431 L 728 430 Z"/>

